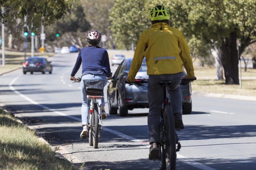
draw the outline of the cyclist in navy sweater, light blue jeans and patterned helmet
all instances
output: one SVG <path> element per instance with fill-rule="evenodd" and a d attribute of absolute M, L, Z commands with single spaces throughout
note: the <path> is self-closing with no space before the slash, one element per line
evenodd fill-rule
<path fill-rule="evenodd" d="M 81 93 L 82 93 L 82 126 L 83 130 L 80 134 L 86 135 L 88 133 L 88 104 L 86 99 L 86 93 L 84 89 L 83 80 L 101 80 L 104 79 L 104 86 L 107 84 L 107 79 L 111 79 L 111 71 L 108 53 L 106 49 L 100 48 L 99 43 L 101 41 L 101 34 L 99 31 L 92 30 L 86 35 L 89 45 L 82 48 L 76 59 L 76 64 L 71 72 L 70 80 L 77 81 L 75 77 L 76 72 L 79 70 L 82 64 L 82 81 L 81 81 Z M 106 119 L 107 114 L 104 109 L 104 93 L 102 98 L 102 118 Z"/>

